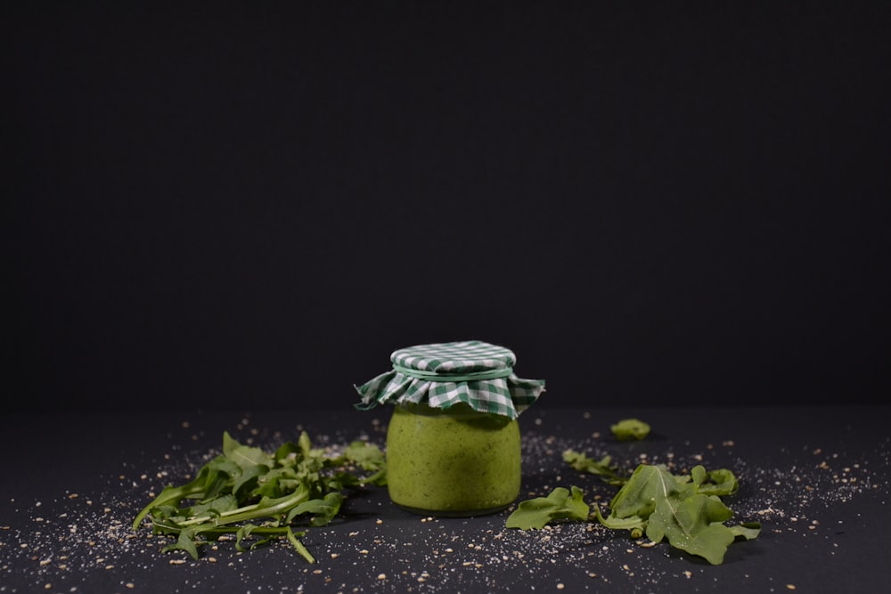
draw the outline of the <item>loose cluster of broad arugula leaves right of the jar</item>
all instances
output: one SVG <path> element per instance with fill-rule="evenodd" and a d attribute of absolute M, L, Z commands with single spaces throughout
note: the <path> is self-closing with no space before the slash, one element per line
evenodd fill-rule
<path fill-rule="evenodd" d="M 615 433 L 616 428 L 613 430 Z M 733 541 L 754 539 L 761 532 L 758 523 L 724 524 L 733 512 L 721 497 L 739 489 L 736 476 L 726 468 L 708 472 L 699 465 L 690 475 L 673 475 L 665 465 L 641 464 L 631 476 L 622 476 L 609 456 L 593 460 L 567 450 L 563 460 L 576 470 L 621 487 L 609 501 L 609 516 L 603 517 L 597 506 L 592 514 L 578 487 L 558 487 L 547 497 L 520 502 L 507 518 L 508 528 L 541 529 L 556 522 L 596 519 L 608 528 L 628 530 L 635 539 L 643 534 L 656 543 L 667 539 L 674 548 L 703 557 L 712 565 L 723 563 Z"/>

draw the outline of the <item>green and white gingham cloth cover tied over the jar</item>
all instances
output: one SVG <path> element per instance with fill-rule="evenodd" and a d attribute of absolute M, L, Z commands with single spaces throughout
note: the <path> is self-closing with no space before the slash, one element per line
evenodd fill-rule
<path fill-rule="evenodd" d="M 516 419 L 544 392 L 544 379 L 513 373 L 510 349 L 478 340 L 408 346 L 390 355 L 393 370 L 356 386 L 367 410 L 383 403 L 425 403 L 447 409 L 470 404 L 475 411 Z"/>

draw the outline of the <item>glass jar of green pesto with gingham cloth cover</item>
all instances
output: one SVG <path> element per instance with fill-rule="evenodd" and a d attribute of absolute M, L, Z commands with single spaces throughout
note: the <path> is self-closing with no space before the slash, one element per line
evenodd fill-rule
<path fill-rule="evenodd" d="M 544 379 L 518 378 L 516 361 L 510 349 L 478 340 L 407 346 L 390 354 L 392 370 L 355 386 L 360 410 L 394 405 L 386 456 L 396 505 L 468 517 L 517 499 L 517 418 L 544 392 Z"/>

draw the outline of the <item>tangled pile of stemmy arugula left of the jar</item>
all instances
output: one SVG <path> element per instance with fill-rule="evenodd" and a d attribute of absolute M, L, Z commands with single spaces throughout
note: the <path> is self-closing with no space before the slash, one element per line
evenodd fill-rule
<path fill-rule="evenodd" d="M 386 480 L 383 452 L 372 443 L 355 441 L 340 454 L 327 454 L 313 448 L 303 432 L 297 443 L 267 453 L 226 432 L 223 453 L 200 468 L 192 482 L 165 487 L 136 515 L 133 529 L 151 516 L 153 533 L 177 536 L 163 552 L 182 549 L 195 559 L 198 546 L 224 534 L 235 534 L 238 550 L 245 550 L 241 543 L 249 537 L 260 537 L 249 549 L 284 537 L 314 563 L 299 540 L 305 531 L 295 532 L 293 526 L 326 525 L 339 513 L 343 490 Z"/>

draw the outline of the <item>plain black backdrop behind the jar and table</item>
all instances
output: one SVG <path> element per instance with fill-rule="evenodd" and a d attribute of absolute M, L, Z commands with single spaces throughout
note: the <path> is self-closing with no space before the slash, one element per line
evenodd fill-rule
<path fill-rule="evenodd" d="M 20 4 L 7 411 L 889 393 L 887 2 Z"/>

